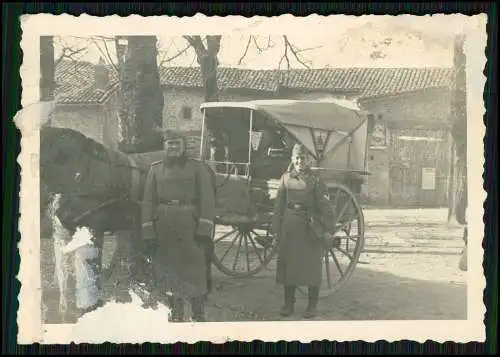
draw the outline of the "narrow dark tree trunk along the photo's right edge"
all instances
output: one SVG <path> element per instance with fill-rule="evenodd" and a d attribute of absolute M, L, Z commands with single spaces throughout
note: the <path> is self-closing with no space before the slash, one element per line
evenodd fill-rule
<path fill-rule="evenodd" d="M 455 144 L 456 164 L 454 167 L 454 194 L 451 204 L 454 210 L 450 210 L 449 220 L 465 217 L 467 207 L 467 94 L 464 40 L 463 36 L 457 36 L 454 44 L 455 88 L 452 100 L 452 135 Z"/>

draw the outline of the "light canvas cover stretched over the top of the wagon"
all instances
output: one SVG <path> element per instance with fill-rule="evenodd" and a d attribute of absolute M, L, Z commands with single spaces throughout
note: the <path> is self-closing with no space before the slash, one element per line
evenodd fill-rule
<path fill-rule="evenodd" d="M 247 102 L 210 102 L 209 108 L 246 108 L 274 120 L 302 143 L 316 159 L 328 159 L 350 140 L 345 151 L 349 169 L 364 170 L 368 112 L 341 100 L 256 100 Z M 321 135 L 323 134 L 323 135 Z M 318 137 L 322 138 L 318 145 Z M 347 169 L 347 167 L 345 167 Z"/>

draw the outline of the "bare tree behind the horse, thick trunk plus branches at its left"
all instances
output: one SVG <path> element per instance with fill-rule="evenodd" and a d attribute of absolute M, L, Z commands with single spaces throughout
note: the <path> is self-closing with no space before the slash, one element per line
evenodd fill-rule
<path fill-rule="evenodd" d="M 120 149 L 125 152 L 160 150 L 161 134 L 156 129 L 162 127 L 163 93 L 158 72 L 156 36 L 71 37 L 83 40 L 86 44 L 75 48 L 75 45 L 68 45 L 64 38 L 58 38 L 61 54 L 55 60 L 55 66 L 64 59 L 71 59 L 75 61 L 77 69 L 78 57 L 84 55 L 88 47 L 94 46 L 119 78 L 120 105 L 117 116 L 123 138 L 119 143 Z M 112 43 L 117 58 L 111 54 Z"/>

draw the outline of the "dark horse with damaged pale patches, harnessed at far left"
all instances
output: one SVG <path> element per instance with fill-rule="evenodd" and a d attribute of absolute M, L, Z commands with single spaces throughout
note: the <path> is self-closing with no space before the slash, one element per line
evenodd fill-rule
<path fill-rule="evenodd" d="M 68 307 L 67 253 L 78 248 L 76 233 L 85 230 L 91 235 L 91 245 L 97 248 L 98 284 L 102 285 L 109 278 L 116 264 L 116 259 L 112 260 L 107 276 L 101 274 L 105 232 L 116 234 L 117 251 L 125 249 L 123 243 L 130 244 L 126 252 L 120 253 L 128 255 L 135 266 L 139 259 L 135 252 L 140 241 L 140 201 L 144 182 L 151 163 L 161 160 L 163 155 L 163 151 L 125 154 L 72 129 L 41 128 L 42 236 L 53 239 L 54 276 L 59 288 L 59 312 L 63 316 Z M 132 232 L 129 242 L 122 242 L 123 232 Z M 115 253 L 115 258 L 118 256 Z"/>

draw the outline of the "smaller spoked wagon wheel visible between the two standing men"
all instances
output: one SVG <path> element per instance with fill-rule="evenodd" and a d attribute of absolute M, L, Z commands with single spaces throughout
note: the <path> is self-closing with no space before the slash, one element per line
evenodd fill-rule
<path fill-rule="evenodd" d="M 267 222 L 217 222 L 215 230 L 213 263 L 226 275 L 253 276 L 276 254 L 276 241 Z"/>

